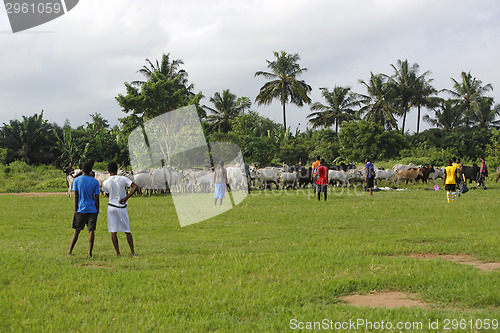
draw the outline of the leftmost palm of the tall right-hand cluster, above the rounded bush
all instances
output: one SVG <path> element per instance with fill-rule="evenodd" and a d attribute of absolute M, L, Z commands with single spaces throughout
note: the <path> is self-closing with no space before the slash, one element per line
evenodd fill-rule
<path fill-rule="evenodd" d="M 368 95 L 360 95 L 364 106 L 358 111 L 359 115 L 364 113 L 364 119 L 384 126 L 387 130 L 397 129 L 398 122 L 394 118 L 396 109 L 389 103 L 391 86 L 385 74 L 370 73 L 370 81 L 359 80 L 363 84 Z"/>

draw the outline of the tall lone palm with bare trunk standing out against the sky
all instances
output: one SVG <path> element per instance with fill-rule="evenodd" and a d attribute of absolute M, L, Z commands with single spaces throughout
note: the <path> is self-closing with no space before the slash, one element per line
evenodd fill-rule
<path fill-rule="evenodd" d="M 264 76 L 272 81 L 267 82 L 260 88 L 260 92 L 255 98 L 258 105 L 271 104 L 274 99 L 279 99 L 283 107 L 283 127 L 286 131 L 286 111 L 285 105 L 289 102 L 303 106 L 304 103 L 311 103 L 308 94 L 312 88 L 304 81 L 297 80 L 297 76 L 307 71 L 307 68 L 300 68 L 297 63 L 300 60 L 298 53 L 287 54 L 274 52 L 275 61 L 267 61 L 270 72 L 258 71 L 255 76 Z"/>

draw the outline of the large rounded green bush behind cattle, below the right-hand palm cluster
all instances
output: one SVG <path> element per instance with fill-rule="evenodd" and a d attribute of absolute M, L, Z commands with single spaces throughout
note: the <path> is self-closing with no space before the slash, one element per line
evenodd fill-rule
<path fill-rule="evenodd" d="M 384 127 L 371 121 L 360 120 L 344 123 L 339 133 L 340 156 L 349 161 L 364 162 L 391 159 L 408 147 L 399 133 L 386 132 Z"/>

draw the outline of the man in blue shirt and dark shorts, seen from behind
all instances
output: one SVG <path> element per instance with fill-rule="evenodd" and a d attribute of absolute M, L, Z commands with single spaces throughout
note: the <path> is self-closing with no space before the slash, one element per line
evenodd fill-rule
<path fill-rule="evenodd" d="M 75 191 L 75 214 L 73 215 L 73 237 L 69 246 L 68 254 L 71 255 L 80 231 L 87 226 L 89 230 L 89 257 L 92 257 L 94 248 L 94 231 L 97 225 L 97 214 L 99 213 L 99 182 L 92 177 L 92 164 L 83 163 L 83 175 L 76 177 L 73 181 Z"/>

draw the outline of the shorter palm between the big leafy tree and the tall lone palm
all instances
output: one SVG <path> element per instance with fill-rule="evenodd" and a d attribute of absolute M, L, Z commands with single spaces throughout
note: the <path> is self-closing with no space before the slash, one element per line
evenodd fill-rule
<path fill-rule="evenodd" d="M 207 121 L 216 127 L 219 131 L 227 133 L 231 130 L 232 121 L 240 115 L 244 106 L 238 104 L 235 94 L 229 92 L 229 89 L 223 90 L 222 95 L 218 92 L 210 97 L 210 103 L 214 108 L 205 106 L 212 114 L 207 116 Z"/>

